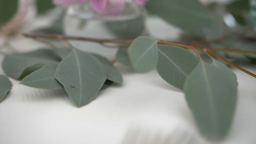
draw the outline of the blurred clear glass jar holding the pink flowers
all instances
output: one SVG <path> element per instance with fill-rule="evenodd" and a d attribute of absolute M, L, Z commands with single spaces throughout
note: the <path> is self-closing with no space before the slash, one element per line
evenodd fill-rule
<path fill-rule="evenodd" d="M 146 35 L 144 17 L 145 10 L 133 1 L 126 2 L 126 8 L 118 15 L 100 15 L 90 3 L 74 5 L 65 17 L 65 33 L 90 38 L 133 39 Z M 98 53 L 113 59 L 117 49 L 109 49 L 97 43 L 74 41 L 71 43 L 78 49 Z"/>

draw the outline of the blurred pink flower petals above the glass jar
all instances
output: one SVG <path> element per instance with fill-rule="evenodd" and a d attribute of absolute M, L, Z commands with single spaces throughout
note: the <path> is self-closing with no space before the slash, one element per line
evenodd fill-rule
<path fill-rule="evenodd" d="M 127 0 L 53 0 L 55 4 L 62 4 L 65 7 L 90 1 L 92 8 L 102 15 L 120 14 L 124 10 Z M 142 7 L 148 0 L 134 0 Z"/>

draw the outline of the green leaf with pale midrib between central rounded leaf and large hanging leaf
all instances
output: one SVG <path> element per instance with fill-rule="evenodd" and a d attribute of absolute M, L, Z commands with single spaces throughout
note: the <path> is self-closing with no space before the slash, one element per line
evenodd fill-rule
<path fill-rule="evenodd" d="M 158 74 L 170 85 L 183 88 L 188 75 L 193 71 L 199 59 L 194 53 L 182 47 L 160 45 L 158 47 Z"/>

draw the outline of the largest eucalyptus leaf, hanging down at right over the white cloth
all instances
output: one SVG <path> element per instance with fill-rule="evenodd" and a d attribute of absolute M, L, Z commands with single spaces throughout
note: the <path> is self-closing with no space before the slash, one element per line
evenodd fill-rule
<path fill-rule="evenodd" d="M 201 133 L 220 140 L 228 133 L 235 113 L 237 78 L 226 65 L 201 61 L 189 75 L 183 91 Z"/>

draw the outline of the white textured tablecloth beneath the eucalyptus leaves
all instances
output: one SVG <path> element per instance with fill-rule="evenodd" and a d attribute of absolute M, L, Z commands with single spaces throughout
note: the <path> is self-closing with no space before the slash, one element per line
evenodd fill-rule
<path fill-rule="evenodd" d="M 19 39 L 13 45 L 27 51 L 33 49 L 31 42 Z M 183 93 L 155 70 L 138 74 L 120 64 L 117 68 L 123 85 L 102 91 L 80 109 L 64 91 L 34 89 L 12 80 L 13 89 L 0 104 L 0 143 L 211 143 L 197 131 Z M 256 73 L 255 65 L 245 68 Z M 236 115 L 228 137 L 217 143 L 256 143 L 256 79 L 234 72 L 239 82 Z"/>

